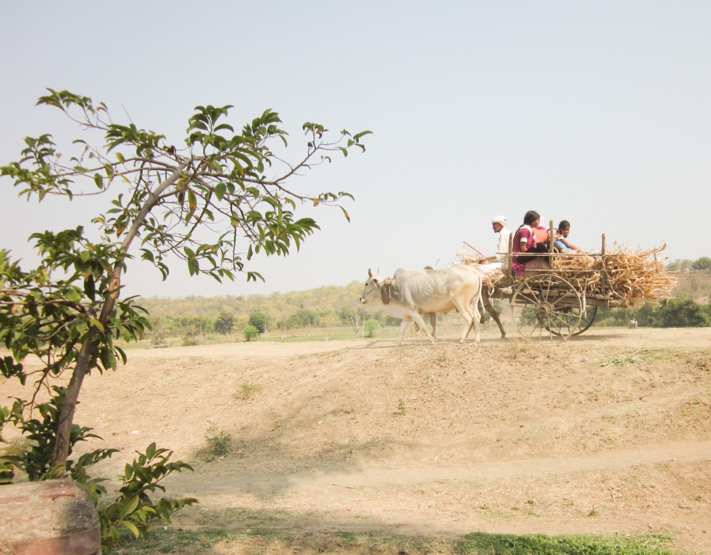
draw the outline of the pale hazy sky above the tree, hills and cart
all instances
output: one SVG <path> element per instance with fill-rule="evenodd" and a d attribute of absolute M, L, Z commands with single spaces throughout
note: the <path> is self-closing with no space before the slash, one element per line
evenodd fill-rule
<path fill-rule="evenodd" d="M 529 209 L 670 258 L 711 255 L 711 3 L 700 1 L 2 2 L 0 164 L 26 135 L 80 137 L 46 87 L 104 101 L 178 144 L 195 105 L 232 104 L 241 127 L 277 110 L 301 123 L 371 129 L 367 152 L 300 178 L 350 191 L 305 207 L 322 231 L 288 258 L 255 259 L 267 282 L 220 285 L 182 263 L 161 282 L 129 265 L 132 295 L 247 295 L 345 285 L 367 270 L 449 265 L 462 241 L 493 253 L 492 216 Z M 61 143 L 60 143 L 61 144 Z M 0 179 L 0 247 L 31 260 L 33 231 L 100 209 L 38 206 Z M 105 205 L 102 205 L 105 209 Z"/>

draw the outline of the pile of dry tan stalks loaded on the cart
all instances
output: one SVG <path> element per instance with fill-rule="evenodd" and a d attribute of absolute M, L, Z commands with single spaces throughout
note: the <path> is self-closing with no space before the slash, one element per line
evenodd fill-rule
<path fill-rule="evenodd" d="M 604 293 L 613 301 L 610 305 L 635 307 L 673 295 L 677 278 L 665 272 L 663 259 L 659 258 L 665 248 L 666 243 L 652 250 L 614 245 L 604 255 L 552 255 L 550 270 L 587 297 Z M 463 264 L 477 264 L 477 256 L 464 252 L 457 256 Z M 510 285 L 510 278 L 502 270 L 493 270 L 483 275 L 483 285 L 490 289 L 503 287 Z"/>

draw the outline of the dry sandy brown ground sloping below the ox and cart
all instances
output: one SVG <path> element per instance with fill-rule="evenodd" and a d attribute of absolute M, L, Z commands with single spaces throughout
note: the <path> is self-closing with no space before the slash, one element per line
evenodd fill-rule
<path fill-rule="evenodd" d="M 129 351 L 126 367 L 87 379 L 76 421 L 122 449 L 95 475 L 153 440 L 191 462 L 166 480 L 200 500 L 182 527 L 664 530 L 711 552 L 711 329 L 394 345 Z M 210 423 L 233 441 L 205 462 Z M 242 552 L 230 549 L 209 552 Z"/>

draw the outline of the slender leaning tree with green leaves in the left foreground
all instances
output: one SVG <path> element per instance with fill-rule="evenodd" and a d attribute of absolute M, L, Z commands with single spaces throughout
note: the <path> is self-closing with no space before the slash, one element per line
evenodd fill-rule
<path fill-rule="evenodd" d="M 48 89 L 38 105 L 63 112 L 85 138 L 65 145 L 76 149 L 67 154 L 50 134 L 27 137 L 21 159 L 0 166 L 0 176 L 27 199 L 107 197 L 105 211 L 91 220 L 98 240 L 83 226 L 34 233 L 41 263 L 31 270 L 0 251 L 0 341 L 11 350 L 1 359 L 1 373 L 24 383 L 22 361 L 36 355 L 44 364 L 38 389 L 64 372 L 71 375 L 51 442 L 56 475 L 67 463 L 85 376 L 115 369 L 117 359 L 125 363 L 114 339 L 139 339 L 149 326 L 133 298 L 119 299 L 136 249 L 164 279 L 169 255 L 183 260 L 191 275 L 220 281 L 244 272 L 247 281 L 262 279 L 247 267 L 253 255 L 287 255 L 319 229 L 314 219 L 296 217 L 298 203 L 338 206 L 348 218 L 341 200 L 351 194 L 297 194 L 287 180 L 331 162 L 334 152 L 364 150 L 361 139 L 369 132 L 344 129 L 329 139 L 324 126 L 306 122 L 304 154 L 289 163 L 272 152 L 274 142 L 287 145 L 287 132 L 272 110 L 235 131 L 225 122 L 232 106 L 198 106 L 188 118 L 184 143 L 176 146 L 133 122 L 114 122 L 107 106 L 90 97 Z M 103 139 L 95 142 L 97 134 Z M 31 400 L 23 401 L 11 413 L 19 418 L 18 412 L 31 407 Z"/>

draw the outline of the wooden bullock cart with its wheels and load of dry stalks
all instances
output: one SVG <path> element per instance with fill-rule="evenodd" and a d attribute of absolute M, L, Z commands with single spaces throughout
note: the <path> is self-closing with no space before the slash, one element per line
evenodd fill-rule
<path fill-rule="evenodd" d="M 523 339 L 568 339 L 592 326 L 599 307 L 636 307 L 670 295 L 676 278 L 665 273 L 658 260 L 665 247 L 608 250 L 603 235 L 599 253 L 554 253 L 551 245 L 518 275 L 511 268 L 512 237 L 508 263 L 484 273 L 483 287 L 490 298 L 508 300 L 511 322 Z M 466 253 L 459 253 L 459 258 L 465 264 L 476 260 Z"/>

